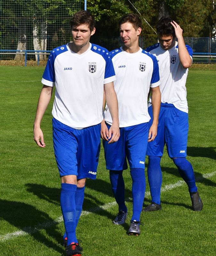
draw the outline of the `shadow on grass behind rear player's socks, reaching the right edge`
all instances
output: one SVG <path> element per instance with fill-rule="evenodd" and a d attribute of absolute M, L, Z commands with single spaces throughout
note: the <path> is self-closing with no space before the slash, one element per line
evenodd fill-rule
<path fill-rule="evenodd" d="M 162 171 L 162 175 L 163 175 L 163 172 L 167 172 L 183 180 L 177 168 L 161 167 L 161 171 Z M 216 187 L 216 183 L 213 182 L 212 180 L 204 178 L 202 173 L 194 172 L 194 175 L 195 175 L 196 182 L 200 182 L 206 186 Z M 162 183 L 162 186 L 163 186 L 163 183 Z"/>

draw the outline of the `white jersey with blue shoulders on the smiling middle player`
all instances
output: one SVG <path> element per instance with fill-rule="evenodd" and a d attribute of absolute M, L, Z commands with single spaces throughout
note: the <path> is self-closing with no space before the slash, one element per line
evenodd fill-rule
<path fill-rule="evenodd" d="M 149 88 L 160 84 L 156 57 L 141 48 L 138 52 L 128 53 L 122 47 L 111 51 L 110 55 L 116 73 L 114 88 L 118 98 L 119 126 L 148 122 Z M 105 121 L 112 124 L 107 106 Z"/>

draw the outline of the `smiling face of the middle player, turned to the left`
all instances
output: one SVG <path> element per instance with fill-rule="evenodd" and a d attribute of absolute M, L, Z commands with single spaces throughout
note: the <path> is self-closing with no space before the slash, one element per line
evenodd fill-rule
<path fill-rule="evenodd" d="M 141 28 L 136 30 L 130 22 L 126 22 L 121 24 L 119 31 L 125 47 L 138 45 Z"/>

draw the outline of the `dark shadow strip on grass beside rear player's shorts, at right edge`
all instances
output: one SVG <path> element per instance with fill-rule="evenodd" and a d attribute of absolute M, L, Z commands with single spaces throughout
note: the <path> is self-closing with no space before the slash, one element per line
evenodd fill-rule
<path fill-rule="evenodd" d="M 214 147 L 188 147 L 187 155 L 195 157 L 208 157 L 216 159 L 216 152 Z"/>

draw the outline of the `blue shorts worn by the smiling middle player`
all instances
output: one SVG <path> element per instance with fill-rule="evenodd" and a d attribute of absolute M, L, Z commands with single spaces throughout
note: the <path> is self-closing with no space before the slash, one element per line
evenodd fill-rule
<path fill-rule="evenodd" d="M 110 125 L 107 124 L 108 129 Z M 122 171 L 127 169 L 145 169 L 146 148 L 148 142 L 148 123 L 120 128 L 118 141 L 108 144 L 103 140 L 106 168 L 108 170 Z"/>

